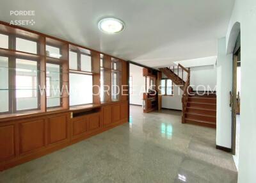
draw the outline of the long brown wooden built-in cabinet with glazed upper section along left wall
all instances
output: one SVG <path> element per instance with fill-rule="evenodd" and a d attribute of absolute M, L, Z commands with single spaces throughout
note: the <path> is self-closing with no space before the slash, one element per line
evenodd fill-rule
<path fill-rule="evenodd" d="M 0 34 L 8 36 L 8 47 L 0 47 L 0 56 L 8 58 L 7 76 L 12 76 L 8 79 L 8 87 L 4 86 L 4 90 L 9 92 L 6 100 L 9 101 L 8 106 L 0 113 L 0 171 L 128 122 L 127 61 L 1 21 Z M 35 42 L 37 51 L 18 51 L 15 38 L 20 36 L 24 40 Z M 59 56 L 56 57 L 54 52 L 51 54 L 47 47 L 57 48 L 60 51 L 60 54 L 57 54 Z M 77 68 L 70 66 L 70 51 L 77 52 Z M 83 70 L 80 54 L 88 54 L 91 57 L 90 70 Z M 36 61 L 34 72 L 38 73 L 36 81 L 42 90 L 37 91 L 35 108 L 16 109 L 17 89 L 13 74 L 17 67 L 15 59 Z M 49 65 L 54 65 L 57 70 L 51 70 Z M 47 94 L 47 83 L 51 86 L 51 72 L 56 74 L 56 81 L 52 81 L 59 82 L 60 84 L 56 85 L 63 87 L 60 95 L 52 95 L 51 92 Z M 100 87 L 92 87 L 93 93 L 97 93 L 92 96 L 92 104 L 70 106 L 71 73 L 92 76 L 93 86 L 101 87 L 102 83 L 109 86 L 109 92 L 103 93 L 104 100 L 100 99 Z M 114 87 L 112 91 L 113 86 L 120 86 L 121 90 L 124 89 L 123 93 L 113 93 L 116 89 Z M 50 91 L 51 87 L 48 90 Z M 51 105 L 51 101 L 56 98 L 58 102 Z"/>

